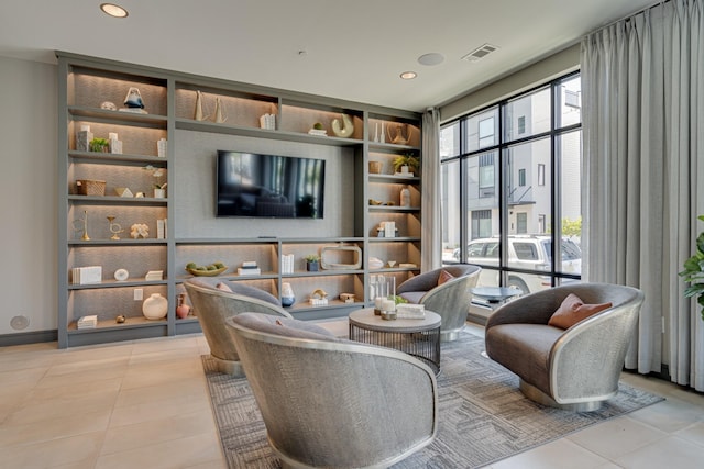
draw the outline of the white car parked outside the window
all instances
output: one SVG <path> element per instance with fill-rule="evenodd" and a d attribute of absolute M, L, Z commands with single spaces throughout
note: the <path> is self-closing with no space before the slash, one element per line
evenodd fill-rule
<path fill-rule="evenodd" d="M 582 250 L 570 238 L 563 237 L 560 243 L 563 273 L 580 275 L 582 272 Z M 455 249 L 455 260 L 460 260 L 460 249 Z M 508 272 L 508 287 L 525 293 L 532 293 L 550 288 L 550 277 L 540 271 L 550 271 L 552 260 L 552 239 L 547 235 L 509 235 L 508 267 L 535 270 L 536 273 Z M 466 263 L 477 266 L 498 266 L 498 236 L 473 239 L 468 244 Z M 497 286 L 498 270 L 482 269 L 477 286 Z M 563 281 L 564 282 L 564 281 Z"/>

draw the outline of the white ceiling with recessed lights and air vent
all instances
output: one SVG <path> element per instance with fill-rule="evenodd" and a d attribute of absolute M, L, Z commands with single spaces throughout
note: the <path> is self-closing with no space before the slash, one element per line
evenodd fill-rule
<path fill-rule="evenodd" d="M 2 0 L 0 55 L 106 57 L 420 111 L 581 40 L 653 0 Z M 462 57 L 490 43 L 480 62 Z M 305 53 L 299 53 L 305 51 Z M 444 62 L 417 58 L 440 53 Z M 415 70 L 404 81 L 399 74 Z"/>

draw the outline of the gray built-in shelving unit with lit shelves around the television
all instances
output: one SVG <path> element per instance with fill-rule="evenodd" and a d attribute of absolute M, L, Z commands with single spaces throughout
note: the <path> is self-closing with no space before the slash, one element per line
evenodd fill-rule
<path fill-rule="evenodd" d="M 59 347 L 200 331 L 197 311 L 186 319 L 175 314 L 183 282 L 191 277 L 185 270 L 190 261 L 221 261 L 229 268 L 218 278 L 248 282 L 279 298 L 282 284 L 289 283 L 296 302 L 288 311 L 304 320 L 342 316 L 370 305 L 374 275 L 395 276 L 400 282 L 420 270 L 421 178 L 395 176 L 393 168 L 399 155 L 421 156 L 417 113 L 68 53 L 57 57 L 58 121 L 65 129 L 59 132 L 58 160 L 66 181 L 58 197 Z M 123 108 L 131 88 L 139 89 L 145 113 L 103 109 L 109 108 L 106 102 Z M 220 122 L 215 122 L 217 105 Z M 354 126 L 346 137 L 336 136 L 332 129 L 343 114 Z M 270 116 L 266 124 L 264 115 Z M 310 134 L 315 123 L 321 123 L 327 135 Z M 79 148 L 76 134 L 86 126 L 95 137 L 117 133 L 122 153 Z M 167 141 L 161 155 L 160 139 Z M 326 159 L 323 217 L 217 219 L 217 149 Z M 371 174 L 370 161 L 381 161 L 383 169 Z M 160 183 L 167 182 L 164 198 L 153 197 L 156 172 Z M 105 193 L 80 194 L 77 180 L 106 181 Z M 121 197 L 120 188 L 142 197 Z M 400 205 L 405 188 L 408 206 Z M 163 238 L 157 238 L 157 221 L 164 221 Z M 380 224 L 392 221 L 397 234 L 380 237 Z M 131 236 L 134 224 L 147 225 L 146 238 Z M 336 264 L 307 271 L 305 256 L 320 254 L 324 246 L 359 248 L 361 266 Z M 284 270 L 283 256 L 292 254 L 294 268 Z M 384 267 L 371 268 L 371 258 Z M 248 260 L 256 261 L 260 275 L 237 273 Z M 74 283 L 72 270 L 89 266 L 102 268 L 100 281 Z M 116 280 L 119 269 L 129 271 L 127 280 Z M 162 270 L 163 279 L 146 280 L 153 270 Z M 310 303 L 317 289 L 328 293 L 328 304 Z M 164 295 L 169 302 L 166 317 L 146 320 L 142 301 L 135 300 L 138 290 L 144 299 Z M 341 293 L 353 293 L 354 300 L 342 301 Z M 77 327 L 86 315 L 98 316 L 95 328 Z M 118 315 L 125 321 L 118 323 Z"/>

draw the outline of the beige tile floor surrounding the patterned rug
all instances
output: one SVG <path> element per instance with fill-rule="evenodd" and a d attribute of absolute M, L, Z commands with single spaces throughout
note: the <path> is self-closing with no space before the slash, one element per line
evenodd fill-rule
<path fill-rule="evenodd" d="M 346 333 L 343 322 L 324 325 Z M 0 348 L 0 468 L 226 468 L 200 364 L 206 353 L 200 334 Z M 703 467 L 704 395 L 630 373 L 624 380 L 667 401 L 491 467 Z"/>

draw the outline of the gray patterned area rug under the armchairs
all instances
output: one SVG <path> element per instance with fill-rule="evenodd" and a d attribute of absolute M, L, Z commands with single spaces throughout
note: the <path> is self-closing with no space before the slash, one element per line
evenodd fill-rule
<path fill-rule="evenodd" d="M 520 393 L 515 375 L 482 357 L 484 339 L 469 333 L 442 344 L 438 436 L 395 469 L 482 467 L 662 400 L 620 383 L 596 412 L 544 407 Z M 208 356 L 202 364 L 230 468 L 280 468 L 246 379 L 215 371 Z"/>

